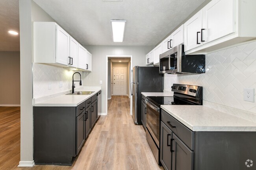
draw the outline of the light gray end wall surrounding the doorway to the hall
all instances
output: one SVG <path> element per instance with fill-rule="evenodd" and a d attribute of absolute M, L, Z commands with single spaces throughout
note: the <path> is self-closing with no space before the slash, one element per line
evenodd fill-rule
<path fill-rule="evenodd" d="M 85 86 L 102 87 L 102 113 L 106 113 L 106 55 L 132 55 L 132 66 L 145 66 L 145 55 L 154 46 L 84 46 L 92 55 L 92 72 L 85 72 Z M 102 84 L 100 84 L 102 80 Z"/>

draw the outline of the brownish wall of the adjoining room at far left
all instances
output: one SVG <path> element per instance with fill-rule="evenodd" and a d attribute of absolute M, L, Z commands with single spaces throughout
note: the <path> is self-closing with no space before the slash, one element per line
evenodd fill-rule
<path fill-rule="evenodd" d="M 20 52 L 0 51 L 0 106 L 20 105 Z"/>

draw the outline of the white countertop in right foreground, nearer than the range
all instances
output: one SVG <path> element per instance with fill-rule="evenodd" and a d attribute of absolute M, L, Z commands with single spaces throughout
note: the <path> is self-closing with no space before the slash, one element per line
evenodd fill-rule
<path fill-rule="evenodd" d="M 161 105 L 192 131 L 256 132 L 256 123 L 206 106 Z"/>

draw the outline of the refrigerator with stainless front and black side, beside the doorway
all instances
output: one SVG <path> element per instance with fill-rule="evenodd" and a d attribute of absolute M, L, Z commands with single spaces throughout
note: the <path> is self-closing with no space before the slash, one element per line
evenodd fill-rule
<path fill-rule="evenodd" d="M 159 67 L 134 66 L 131 73 L 132 117 L 141 125 L 141 92 L 163 92 L 163 74 Z"/>

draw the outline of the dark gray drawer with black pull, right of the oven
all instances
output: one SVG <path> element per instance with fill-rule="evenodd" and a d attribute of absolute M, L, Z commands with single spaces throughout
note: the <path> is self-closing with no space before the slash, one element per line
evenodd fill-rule
<path fill-rule="evenodd" d="M 163 121 L 191 150 L 194 150 L 194 133 L 164 110 L 161 110 Z"/>

